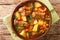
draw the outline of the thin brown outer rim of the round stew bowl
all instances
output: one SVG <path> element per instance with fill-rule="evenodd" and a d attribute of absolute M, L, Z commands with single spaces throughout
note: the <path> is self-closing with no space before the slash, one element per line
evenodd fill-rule
<path fill-rule="evenodd" d="M 33 0 L 33 2 L 35 2 L 35 1 L 42 3 L 42 2 L 39 1 L 39 0 Z M 31 2 L 31 1 L 25 1 L 25 2 Z M 19 9 L 18 6 L 20 6 L 22 3 L 25 3 L 25 2 L 20 2 L 20 3 L 17 4 L 17 6 L 16 6 L 15 9 L 13 10 L 13 13 L 11 14 L 11 18 L 10 18 L 11 29 L 12 29 L 12 31 L 13 31 L 19 38 L 21 38 L 21 37 L 16 33 L 16 31 L 14 30 L 14 28 L 13 28 L 13 26 L 12 26 L 12 25 L 13 25 L 13 24 L 12 24 L 12 17 L 13 17 L 13 14 L 15 13 L 16 9 Z M 48 7 L 47 7 L 44 3 L 42 3 L 42 4 L 48 9 Z M 48 9 L 48 11 L 49 11 L 49 9 Z M 51 16 L 51 12 L 50 12 L 50 11 L 49 11 L 49 15 L 50 15 L 50 17 L 51 17 L 51 20 L 50 20 L 50 25 L 49 25 L 48 30 L 50 29 L 50 26 L 51 26 L 51 23 L 52 23 L 52 16 Z M 43 37 L 44 35 L 47 34 L 48 30 L 47 30 L 44 34 L 42 34 L 41 36 L 39 36 L 39 37 L 37 37 L 37 38 L 35 38 L 35 39 L 33 39 L 33 40 L 37 40 L 37 39 Z M 22 37 L 22 39 L 23 39 L 23 37 Z M 27 40 L 27 39 L 24 38 L 24 40 Z"/>

